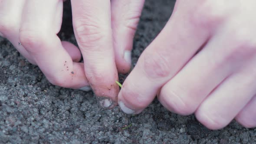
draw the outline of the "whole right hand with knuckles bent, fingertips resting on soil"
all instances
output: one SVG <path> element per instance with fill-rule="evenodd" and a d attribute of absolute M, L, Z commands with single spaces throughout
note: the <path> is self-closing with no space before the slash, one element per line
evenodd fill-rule
<path fill-rule="evenodd" d="M 256 127 L 255 0 L 177 0 L 118 95 L 138 114 L 155 95 L 169 111 L 195 113 L 209 129 L 234 118 Z"/>

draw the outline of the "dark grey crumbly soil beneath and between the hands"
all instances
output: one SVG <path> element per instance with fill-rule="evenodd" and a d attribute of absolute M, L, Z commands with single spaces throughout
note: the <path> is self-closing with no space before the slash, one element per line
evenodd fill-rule
<path fill-rule="evenodd" d="M 72 43 L 69 1 L 59 36 Z M 174 0 L 146 0 L 134 39 L 133 65 L 171 15 Z M 171 32 L 170 32 L 171 33 Z M 121 81 L 126 75 L 120 75 Z M 0 38 L 0 143 L 256 144 L 256 129 L 233 121 L 210 131 L 154 100 L 140 115 L 104 110 L 92 92 L 51 85 L 37 66 Z"/>

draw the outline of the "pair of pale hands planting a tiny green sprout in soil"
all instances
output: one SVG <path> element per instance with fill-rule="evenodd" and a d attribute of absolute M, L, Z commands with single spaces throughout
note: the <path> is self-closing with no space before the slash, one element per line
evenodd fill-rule
<path fill-rule="evenodd" d="M 0 0 L 0 35 L 54 85 L 92 87 L 100 104 L 139 114 L 155 95 L 168 110 L 210 129 L 234 118 L 256 127 L 255 0 L 177 0 L 174 12 L 130 69 L 144 0 L 71 0 L 79 49 L 56 36 L 62 0 Z M 79 63 L 81 53 L 84 63 Z M 139 79 L 139 82 L 138 82 Z M 89 86 L 89 87 L 88 87 Z M 118 97 L 117 97 L 118 96 Z"/>

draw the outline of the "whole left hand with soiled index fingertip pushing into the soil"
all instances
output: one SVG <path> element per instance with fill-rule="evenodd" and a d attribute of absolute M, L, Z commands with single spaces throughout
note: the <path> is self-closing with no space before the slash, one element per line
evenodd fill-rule
<path fill-rule="evenodd" d="M 79 46 L 61 42 L 62 0 L 0 0 L 0 36 L 53 85 L 90 90 L 104 108 L 117 105 L 118 72 L 131 67 L 132 38 L 144 0 L 71 0 Z M 84 63 L 79 62 L 81 54 Z"/>

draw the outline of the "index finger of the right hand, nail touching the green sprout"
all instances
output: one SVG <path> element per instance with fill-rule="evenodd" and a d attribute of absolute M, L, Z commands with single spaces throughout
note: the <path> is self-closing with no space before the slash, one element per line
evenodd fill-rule
<path fill-rule="evenodd" d="M 171 79 L 210 36 L 210 28 L 191 24 L 191 15 L 177 3 L 170 20 L 156 39 L 141 54 L 118 95 L 120 108 L 138 114 L 164 83 Z M 193 3 L 191 3 L 191 7 Z M 192 37 L 191 37 L 192 36 Z"/>

